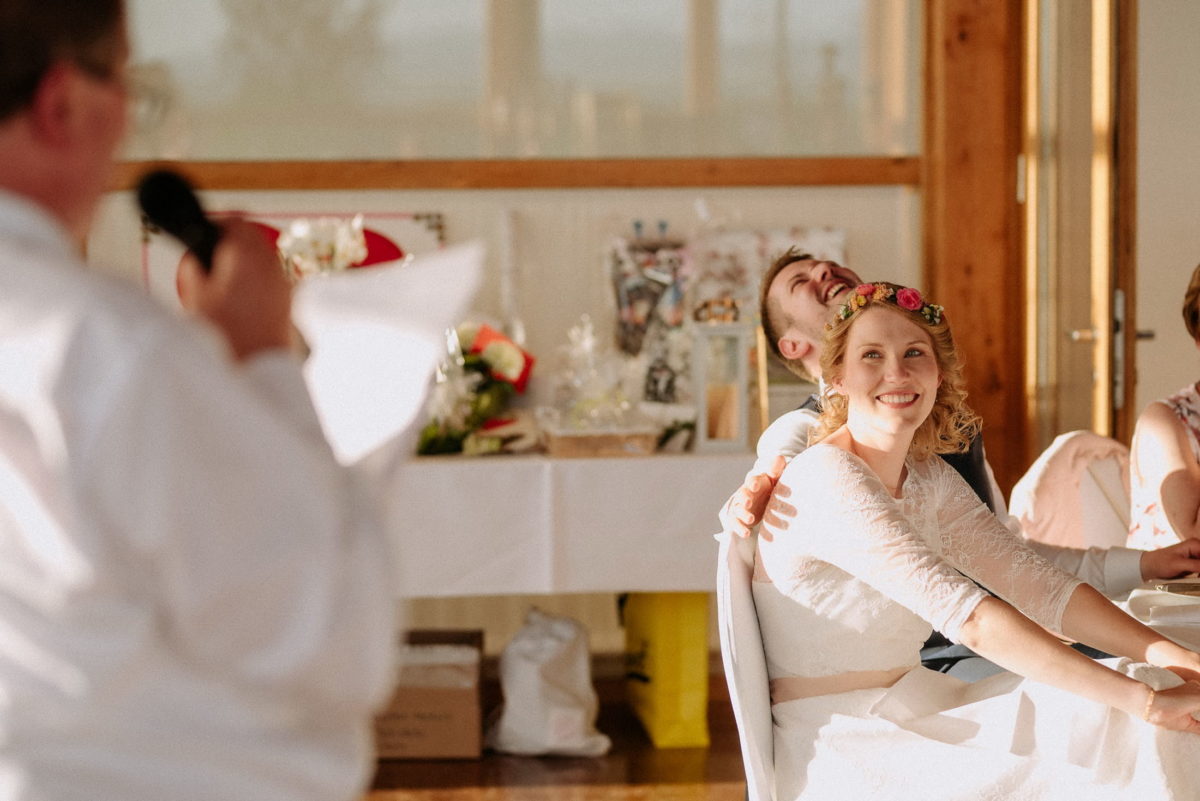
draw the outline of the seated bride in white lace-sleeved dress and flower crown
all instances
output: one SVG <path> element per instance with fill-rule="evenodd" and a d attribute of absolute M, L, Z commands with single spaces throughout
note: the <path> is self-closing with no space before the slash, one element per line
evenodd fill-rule
<path fill-rule="evenodd" d="M 979 424 L 942 307 L 859 285 L 821 368 L 816 444 L 780 477 L 755 565 L 775 797 L 1195 797 L 1200 656 L 1037 556 L 930 458 Z M 1012 673 L 922 668 L 931 626 Z"/>

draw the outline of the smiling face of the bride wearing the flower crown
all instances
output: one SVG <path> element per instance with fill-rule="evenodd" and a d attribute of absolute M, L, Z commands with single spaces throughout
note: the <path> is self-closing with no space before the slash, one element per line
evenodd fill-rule
<path fill-rule="evenodd" d="M 872 306 L 857 313 L 846 338 L 841 375 L 851 428 L 912 434 L 934 408 L 942 383 L 934 343 L 904 313 Z"/>

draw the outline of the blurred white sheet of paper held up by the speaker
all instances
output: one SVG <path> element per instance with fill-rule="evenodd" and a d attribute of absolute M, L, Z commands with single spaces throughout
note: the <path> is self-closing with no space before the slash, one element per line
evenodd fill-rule
<path fill-rule="evenodd" d="M 409 432 L 479 285 L 479 242 L 300 282 L 293 319 L 312 349 L 305 378 L 344 464 Z"/>

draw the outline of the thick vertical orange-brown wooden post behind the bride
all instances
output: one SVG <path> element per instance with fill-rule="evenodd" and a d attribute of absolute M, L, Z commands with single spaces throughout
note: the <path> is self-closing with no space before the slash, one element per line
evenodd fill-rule
<path fill-rule="evenodd" d="M 926 2 L 926 284 L 954 325 L 1006 493 L 1031 462 L 1016 203 L 1021 24 L 1020 0 Z"/>

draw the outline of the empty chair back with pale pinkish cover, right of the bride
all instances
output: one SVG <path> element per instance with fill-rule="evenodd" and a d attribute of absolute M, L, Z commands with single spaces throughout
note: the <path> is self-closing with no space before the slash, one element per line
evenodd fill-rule
<path fill-rule="evenodd" d="M 1088 430 L 1061 434 L 1013 487 L 1030 540 L 1111 548 L 1129 536 L 1129 448 Z"/>

